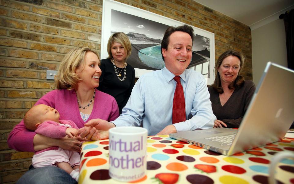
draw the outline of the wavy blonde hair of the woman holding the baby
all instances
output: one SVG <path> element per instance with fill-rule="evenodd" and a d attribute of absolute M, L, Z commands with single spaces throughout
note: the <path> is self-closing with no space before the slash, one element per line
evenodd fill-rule
<path fill-rule="evenodd" d="M 80 47 L 70 50 L 62 59 L 58 74 L 55 78 L 55 85 L 57 89 L 72 90 L 77 86 L 77 83 L 81 80 L 75 73 L 76 69 L 85 66 L 86 52 L 93 52 L 96 56 L 99 55 L 88 47 Z"/>

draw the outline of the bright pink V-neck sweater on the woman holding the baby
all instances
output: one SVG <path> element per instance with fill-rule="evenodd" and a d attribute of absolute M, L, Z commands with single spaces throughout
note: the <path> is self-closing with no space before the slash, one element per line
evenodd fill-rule
<path fill-rule="evenodd" d="M 35 105 L 45 104 L 60 113 L 60 119 L 74 121 L 77 127 L 82 128 L 91 119 L 100 118 L 106 121 L 114 121 L 119 117 L 119 108 L 115 98 L 97 89 L 93 110 L 87 121 L 83 121 L 77 104 L 77 96 L 74 90 L 52 90 L 45 94 Z M 35 152 L 33 139 L 36 132 L 29 131 L 24 121 L 16 125 L 10 132 L 7 143 L 9 148 L 17 151 Z"/>

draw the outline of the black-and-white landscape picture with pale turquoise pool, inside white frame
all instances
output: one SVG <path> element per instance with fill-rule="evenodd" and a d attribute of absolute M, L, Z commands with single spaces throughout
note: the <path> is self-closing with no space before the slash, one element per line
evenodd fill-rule
<path fill-rule="evenodd" d="M 160 45 L 164 32 L 170 25 L 117 10 L 111 10 L 110 21 L 111 34 L 123 32 L 130 39 L 132 53 L 127 63 L 134 68 L 145 70 L 160 70 L 164 68 Z M 195 34 L 192 59 L 188 68 L 202 73 L 205 78 L 210 78 L 209 62 L 209 38 Z"/>

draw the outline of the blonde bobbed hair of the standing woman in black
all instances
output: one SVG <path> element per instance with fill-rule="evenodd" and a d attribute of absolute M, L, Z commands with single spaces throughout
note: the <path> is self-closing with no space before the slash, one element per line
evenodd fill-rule
<path fill-rule="evenodd" d="M 113 45 L 114 42 L 117 42 L 123 45 L 123 48 L 126 50 L 126 59 L 125 59 L 126 61 L 132 52 L 132 46 L 128 36 L 125 33 L 119 32 L 119 33 L 114 33 L 109 37 L 108 43 L 107 43 L 107 52 L 108 52 L 109 59 L 113 58 L 111 53 L 111 46 Z"/>

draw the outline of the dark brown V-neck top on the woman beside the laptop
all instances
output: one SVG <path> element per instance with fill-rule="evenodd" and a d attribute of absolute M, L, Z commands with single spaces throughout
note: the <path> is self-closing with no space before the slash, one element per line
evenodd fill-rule
<path fill-rule="evenodd" d="M 245 80 L 243 86 L 236 88 L 228 101 L 221 106 L 219 93 L 212 86 L 208 87 L 213 114 L 223 121 L 227 128 L 238 128 L 245 115 L 255 91 L 251 80 Z"/>

